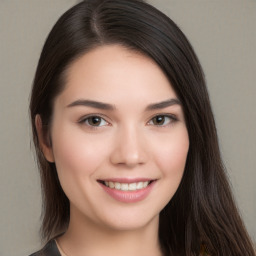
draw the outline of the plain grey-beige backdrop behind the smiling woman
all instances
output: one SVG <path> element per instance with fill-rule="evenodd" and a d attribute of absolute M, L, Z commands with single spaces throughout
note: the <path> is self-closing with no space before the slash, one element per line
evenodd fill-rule
<path fill-rule="evenodd" d="M 28 102 L 43 42 L 75 0 L 0 0 L 0 255 L 40 247 L 40 182 Z M 149 1 L 187 35 L 204 68 L 233 191 L 256 238 L 256 1 Z"/>

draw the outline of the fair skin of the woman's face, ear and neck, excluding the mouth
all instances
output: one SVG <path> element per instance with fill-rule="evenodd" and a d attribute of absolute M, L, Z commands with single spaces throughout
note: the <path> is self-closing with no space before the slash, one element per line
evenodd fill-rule
<path fill-rule="evenodd" d="M 174 104 L 148 109 L 170 99 Z M 79 105 L 78 100 L 113 109 Z M 189 149 L 177 102 L 161 69 L 122 46 L 98 47 L 70 66 L 65 89 L 54 102 L 50 146 L 36 118 L 43 153 L 55 162 L 70 200 L 70 225 L 58 239 L 67 255 L 161 255 L 159 213 L 180 184 Z M 92 126 L 88 115 L 102 119 Z M 127 203 L 98 182 L 114 178 L 155 182 L 145 199 Z"/>

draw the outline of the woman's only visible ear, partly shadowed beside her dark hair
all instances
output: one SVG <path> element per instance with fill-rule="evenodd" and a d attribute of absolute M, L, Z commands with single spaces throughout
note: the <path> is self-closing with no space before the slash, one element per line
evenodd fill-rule
<path fill-rule="evenodd" d="M 38 114 L 36 115 L 36 118 L 35 118 L 35 125 L 36 125 L 39 145 L 44 154 L 44 157 L 48 162 L 54 163 L 53 150 L 52 150 L 52 145 L 50 143 L 49 134 L 45 134 L 41 116 Z"/>

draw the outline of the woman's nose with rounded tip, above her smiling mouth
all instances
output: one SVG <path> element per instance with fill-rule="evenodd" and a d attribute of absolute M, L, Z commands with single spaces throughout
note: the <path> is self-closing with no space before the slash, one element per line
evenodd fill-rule
<path fill-rule="evenodd" d="M 126 127 L 119 131 L 114 139 L 110 161 L 114 165 L 133 168 L 147 161 L 146 143 L 143 134 L 135 127 Z"/>

